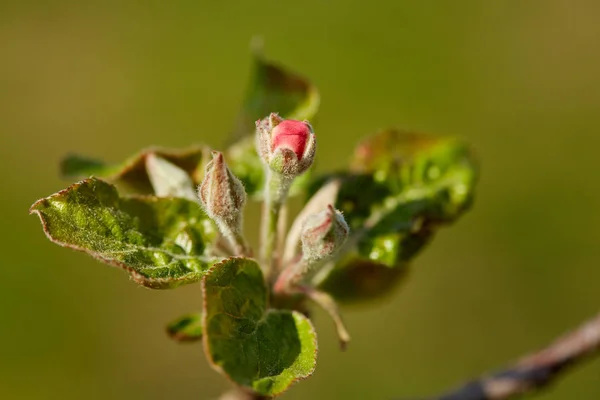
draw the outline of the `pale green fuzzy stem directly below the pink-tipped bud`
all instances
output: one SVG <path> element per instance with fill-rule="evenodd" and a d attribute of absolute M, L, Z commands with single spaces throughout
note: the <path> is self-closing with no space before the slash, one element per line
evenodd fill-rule
<path fill-rule="evenodd" d="M 273 172 L 266 167 L 265 202 L 261 227 L 261 265 L 267 279 L 271 279 L 278 269 L 277 253 L 278 225 L 281 208 L 285 204 L 293 178 Z"/>

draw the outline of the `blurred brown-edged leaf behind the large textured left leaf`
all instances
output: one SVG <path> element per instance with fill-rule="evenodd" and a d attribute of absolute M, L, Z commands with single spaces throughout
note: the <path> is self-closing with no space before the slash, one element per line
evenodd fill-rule
<path fill-rule="evenodd" d="M 159 161 L 157 162 L 157 160 Z M 93 175 L 113 183 L 124 193 L 162 196 L 165 194 L 164 192 L 160 194 L 155 192 L 156 179 L 153 179 L 157 177 L 157 173 L 158 176 L 162 175 L 160 171 L 157 171 L 157 163 L 160 163 L 158 167 L 164 167 L 166 162 L 185 171 L 191 182 L 198 185 L 204 178 L 204 167 L 209 160 L 210 149 L 206 146 L 196 146 L 185 150 L 146 149 L 117 165 L 106 164 L 83 156 L 69 155 L 62 161 L 60 169 L 66 178 L 87 178 Z M 151 176 L 153 170 L 154 176 Z M 181 177 L 179 181 L 181 181 Z M 164 188 L 165 185 L 162 187 Z M 189 198 L 189 191 L 185 189 L 183 192 Z"/>

